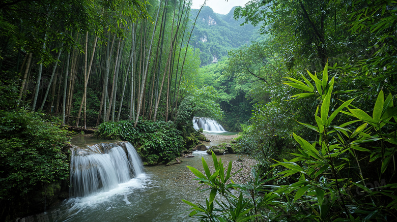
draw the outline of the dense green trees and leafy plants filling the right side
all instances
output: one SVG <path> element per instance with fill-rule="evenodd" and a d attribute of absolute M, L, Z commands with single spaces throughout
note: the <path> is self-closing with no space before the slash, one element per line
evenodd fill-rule
<path fill-rule="evenodd" d="M 185 201 L 189 215 L 396 220 L 396 10 L 394 1 L 361 0 L 237 7 L 235 18 L 269 35 L 229 51 L 221 75 L 250 84 L 253 111 L 238 144 L 261 164 L 245 184 L 216 157 L 214 171 L 205 161 L 205 172 L 190 168 L 210 194 L 205 205 Z"/>

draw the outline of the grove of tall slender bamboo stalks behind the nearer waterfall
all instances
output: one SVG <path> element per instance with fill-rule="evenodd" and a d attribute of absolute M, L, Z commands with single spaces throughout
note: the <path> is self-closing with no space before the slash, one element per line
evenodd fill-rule
<path fill-rule="evenodd" d="M 190 5 L 3 1 L 1 81 L 18 98 L 4 106 L 52 113 L 84 128 L 122 119 L 136 126 L 139 116 L 175 118 L 185 75 L 200 66 L 188 47 Z"/>

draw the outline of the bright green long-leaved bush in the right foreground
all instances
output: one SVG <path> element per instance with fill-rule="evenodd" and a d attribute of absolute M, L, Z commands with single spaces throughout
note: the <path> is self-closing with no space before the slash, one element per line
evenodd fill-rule
<path fill-rule="evenodd" d="M 260 177 L 246 184 L 228 182 L 224 169 L 217 165 L 205 175 L 189 167 L 200 183 L 211 189 L 206 206 L 192 206 L 189 216 L 202 221 L 394 221 L 397 213 L 397 180 L 392 161 L 397 147 L 397 108 L 393 96 L 385 98 L 379 91 L 372 116 L 348 101 L 333 100 L 335 79 L 328 81 L 327 66 L 320 80 L 308 72 L 312 84 L 289 78 L 285 84 L 305 90 L 293 98 L 317 98 L 321 101 L 315 112 L 316 124 L 300 123 L 318 134 L 310 143 L 293 134 L 299 144 L 295 158 L 279 160 L 272 165 L 283 168 L 275 177 Z M 334 124 L 341 114 L 349 121 Z M 271 171 L 268 172 L 270 174 Z M 264 179 L 267 178 L 267 179 Z M 280 181 L 288 181 L 280 185 Z M 269 184 L 270 183 L 270 184 Z M 272 184 L 273 183 L 273 184 Z M 236 189 L 231 192 L 230 189 Z M 219 194 L 227 202 L 218 202 Z M 214 200 L 220 206 L 214 208 Z"/>

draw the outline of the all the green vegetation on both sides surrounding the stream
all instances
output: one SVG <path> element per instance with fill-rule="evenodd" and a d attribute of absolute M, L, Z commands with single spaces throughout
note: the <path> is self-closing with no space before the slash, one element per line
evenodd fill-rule
<path fill-rule="evenodd" d="M 46 113 L 102 123 L 101 136 L 131 140 L 150 164 L 194 143 L 193 116 L 243 130 L 238 144 L 261 163 L 247 184 L 230 183 L 215 157 L 214 172 L 190 168 L 211 189 L 207 206 L 186 202 L 204 221 L 395 220 L 395 1 L 254 0 L 234 11 L 244 35 L 231 13 L 189 8 L 0 4 L 2 219 L 66 177 L 65 132 Z"/>

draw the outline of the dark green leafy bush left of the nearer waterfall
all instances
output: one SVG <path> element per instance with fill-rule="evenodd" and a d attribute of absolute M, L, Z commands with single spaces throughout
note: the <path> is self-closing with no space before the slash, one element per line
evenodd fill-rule
<path fill-rule="evenodd" d="M 0 219 L 51 204 L 54 192 L 46 187 L 69 176 L 66 135 L 43 114 L 0 111 Z"/>

